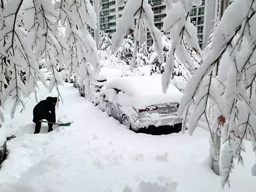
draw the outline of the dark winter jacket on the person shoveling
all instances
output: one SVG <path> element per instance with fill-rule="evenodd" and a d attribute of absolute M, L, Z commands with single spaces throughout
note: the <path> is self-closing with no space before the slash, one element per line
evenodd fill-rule
<path fill-rule="evenodd" d="M 39 120 L 47 119 L 49 122 L 56 122 L 55 105 L 57 97 L 47 97 L 41 100 L 33 109 L 33 122 L 38 123 Z"/>

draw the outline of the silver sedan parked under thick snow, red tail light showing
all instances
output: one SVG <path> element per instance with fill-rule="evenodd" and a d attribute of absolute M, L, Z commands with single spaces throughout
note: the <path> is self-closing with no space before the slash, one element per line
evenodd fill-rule
<path fill-rule="evenodd" d="M 178 118 L 177 111 L 182 93 L 172 84 L 163 93 L 161 77 L 111 79 L 102 88 L 100 95 L 100 109 L 133 131 L 152 126 L 162 127 L 171 122 L 180 131 L 182 118 Z"/>

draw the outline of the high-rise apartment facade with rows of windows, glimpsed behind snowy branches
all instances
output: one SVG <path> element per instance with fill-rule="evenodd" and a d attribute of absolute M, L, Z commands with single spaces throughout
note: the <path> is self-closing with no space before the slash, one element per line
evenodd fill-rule
<path fill-rule="evenodd" d="M 102 0 L 102 8 L 99 13 L 100 30 L 104 30 L 111 37 L 116 31 L 116 22 L 122 17 L 122 10 L 129 0 Z M 194 6 L 189 13 L 191 22 L 195 25 L 198 36 L 198 43 L 204 49 L 214 26 L 214 19 L 220 14 L 220 3 L 223 0 L 202 0 L 200 6 Z M 224 0 L 230 2 L 234 0 Z M 166 17 L 166 5 L 164 0 L 148 0 L 154 12 L 155 26 L 161 31 L 163 19 Z M 93 33 L 93 31 L 92 31 Z M 168 36 L 168 35 L 167 35 Z M 147 45 L 153 44 L 150 31 L 145 31 Z"/>

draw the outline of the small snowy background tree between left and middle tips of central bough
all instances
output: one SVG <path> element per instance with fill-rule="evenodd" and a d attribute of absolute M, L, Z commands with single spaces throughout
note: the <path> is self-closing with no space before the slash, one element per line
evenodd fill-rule
<path fill-rule="evenodd" d="M 121 47 L 117 51 L 117 56 L 120 58 L 120 60 L 124 60 L 127 65 L 132 60 L 133 56 L 133 47 L 134 43 L 132 41 L 132 36 L 127 35 L 127 38 L 125 38 L 124 43 L 121 45 Z"/>

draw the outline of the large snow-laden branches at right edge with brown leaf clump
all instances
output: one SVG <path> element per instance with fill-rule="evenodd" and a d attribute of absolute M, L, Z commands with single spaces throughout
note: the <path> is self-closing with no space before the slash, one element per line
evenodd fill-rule
<path fill-rule="evenodd" d="M 256 152 L 255 13 L 255 0 L 236 0 L 228 6 L 214 31 L 204 63 L 188 81 L 180 101 L 183 130 L 188 124 L 193 134 L 198 120 L 204 118 L 207 122 L 211 156 L 218 158 L 221 154 L 222 188 L 230 186 L 234 164 L 244 163 L 244 140 L 252 141 Z M 216 133 L 221 136 L 221 152 Z M 252 175 L 256 175 L 256 163 Z"/>

